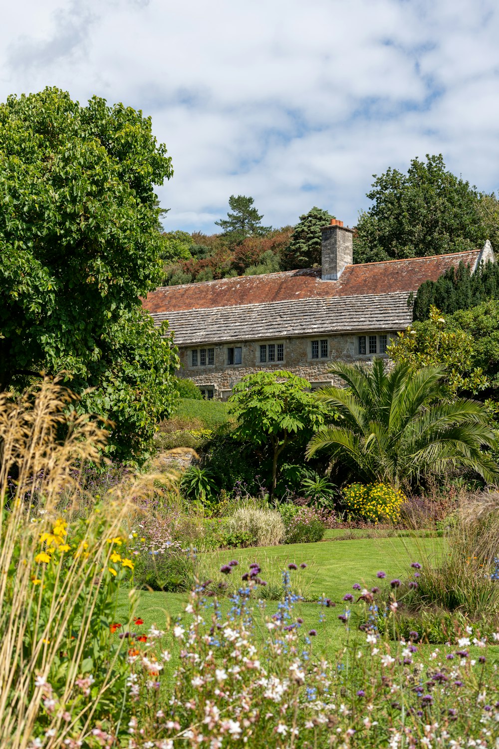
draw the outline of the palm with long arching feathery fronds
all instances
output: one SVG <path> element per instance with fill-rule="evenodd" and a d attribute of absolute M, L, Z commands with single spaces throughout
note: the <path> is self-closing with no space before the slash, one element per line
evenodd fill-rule
<path fill-rule="evenodd" d="M 375 359 L 372 368 L 337 363 L 331 374 L 346 387 L 324 387 L 316 396 L 339 419 L 313 436 L 307 458 L 329 449 L 359 479 L 394 488 L 456 465 L 487 482 L 498 479 L 498 464 L 481 449 L 495 443 L 486 407 L 467 398 L 446 401 L 443 367 L 414 370 L 398 363 L 388 371 Z"/>

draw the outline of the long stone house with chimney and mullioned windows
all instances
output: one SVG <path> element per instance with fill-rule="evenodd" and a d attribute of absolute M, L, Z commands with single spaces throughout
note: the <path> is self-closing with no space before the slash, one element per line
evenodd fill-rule
<path fill-rule="evenodd" d="M 411 323 L 408 297 L 460 261 L 495 262 L 481 250 L 353 264 L 352 234 L 331 220 L 322 229 L 322 267 L 158 288 L 144 308 L 168 320 L 179 347 L 181 377 L 205 398 L 227 400 L 244 376 L 287 369 L 313 388 L 331 384 L 333 360 L 385 356 Z"/>

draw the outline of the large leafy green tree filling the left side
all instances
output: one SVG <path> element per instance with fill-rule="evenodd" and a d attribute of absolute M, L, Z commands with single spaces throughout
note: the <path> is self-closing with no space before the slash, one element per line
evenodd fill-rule
<path fill-rule="evenodd" d="M 174 401 L 177 355 L 139 300 L 161 278 L 153 188 L 172 174 L 140 111 L 57 88 L 0 105 L 0 389 L 66 372 L 121 458 Z"/>

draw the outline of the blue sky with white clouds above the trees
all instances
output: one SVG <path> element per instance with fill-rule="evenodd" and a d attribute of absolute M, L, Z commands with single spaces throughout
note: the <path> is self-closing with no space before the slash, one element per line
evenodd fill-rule
<path fill-rule="evenodd" d="M 1 25 L 1 101 L 54 85 L 152 118 L 166 231 L 219 231 L 230 195 L 355 225 L 373 175 L 427 153 L 499 187 L 496 0 L 17 0 Z"/>

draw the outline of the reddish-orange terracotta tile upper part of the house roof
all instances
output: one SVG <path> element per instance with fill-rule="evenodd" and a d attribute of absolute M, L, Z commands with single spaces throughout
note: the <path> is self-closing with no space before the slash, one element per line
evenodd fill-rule
<path fill-rule="evenodd" d="M 460 261 L 474 269 L 480 250 L 410 258 L 381 263 L 348 265 L 337 281 L 322 281 L 320 268 L 269 273 L 264 276 L 238 276 L 220 281 L 165 286 L 148 294 L 143 301 L 153 317 L 169 312 L 261 305 L 293 300 L 333 297 L 409 294 L 423 281 L 436 281 L 447 268 Z M 174 327 L 174 326 L 172 326 Z"/>

